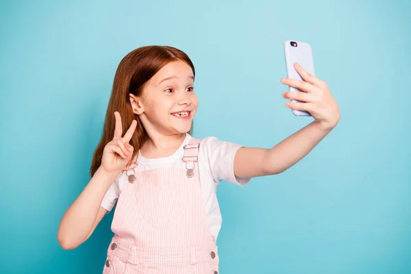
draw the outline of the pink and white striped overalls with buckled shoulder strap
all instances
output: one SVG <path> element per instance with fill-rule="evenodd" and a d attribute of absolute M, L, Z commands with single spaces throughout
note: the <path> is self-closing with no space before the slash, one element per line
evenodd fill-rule
<path fill-rule="evenodd" d="M 186 168 L 140 171 L 125 183 L 103 274 L 219 273 L 196 164 L 199 144 L 192 138 L 184 146 Z"/>

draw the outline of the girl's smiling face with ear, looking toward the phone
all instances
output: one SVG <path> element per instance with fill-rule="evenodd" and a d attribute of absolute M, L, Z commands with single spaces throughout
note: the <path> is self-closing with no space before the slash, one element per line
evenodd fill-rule
<path fill-rule="evenodd" d="M 190 130 L 199 103 L 193 85 L 191 67 L 174 61 L 149 79 L 140 97 L 130 95 L 134 113 L 147 133 L 169 136 Z"/>

